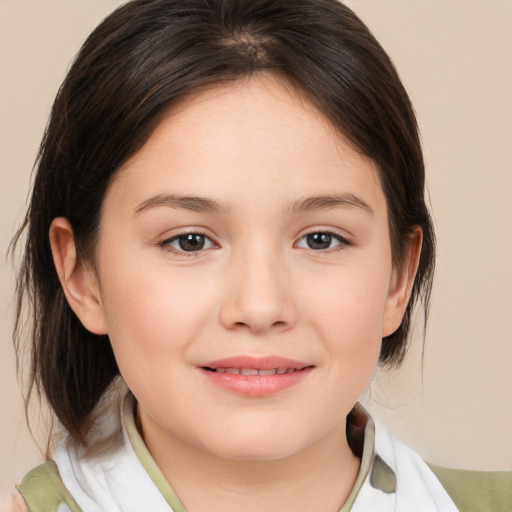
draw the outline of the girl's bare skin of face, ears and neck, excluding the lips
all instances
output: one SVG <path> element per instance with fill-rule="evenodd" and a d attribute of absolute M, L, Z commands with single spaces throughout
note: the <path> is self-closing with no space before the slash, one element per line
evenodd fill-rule
<path fill-rule="evenodd" d="M 191 232 L 202 250 L 180 249 Z M 311 233 L 330 233 L 327 247 Z M 263 75 L 186 98 L 112 181 L 94 265 L 77 265 L 66 219 L 50 238 L 71 307 L 109 334 L 144 440 L 189 512 L 342 506 L 359 468 L 345 418 L 400 324 L 421 233 L 393 268 L 375 165 L 305 98 Z M 200 370 L 238 355 L 313 369 L 266 397 Z"/>

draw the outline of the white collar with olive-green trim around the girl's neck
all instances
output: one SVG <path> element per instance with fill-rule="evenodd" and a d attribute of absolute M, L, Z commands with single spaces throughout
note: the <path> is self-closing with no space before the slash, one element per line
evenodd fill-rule
<path fill-rule="evenodd" d="M 69 438 L 58 445 L 53 459 L 64 485 L 83 512 L 187 512 L 137 431 L 133 396 L 127 393 L 120 401 L 121 407 L 119 400 L 112 401 L 113 409 L 102 414 L 91 434 L 91 444 L 103 449 L 86 455 Z M 354 489 L 339 512 L 457 511 L 416 453 L 381 425 L 375 426 L 361 406 L 350 416 L 354 435 L 364 437 L 359 439 L 362 461 Z"/>

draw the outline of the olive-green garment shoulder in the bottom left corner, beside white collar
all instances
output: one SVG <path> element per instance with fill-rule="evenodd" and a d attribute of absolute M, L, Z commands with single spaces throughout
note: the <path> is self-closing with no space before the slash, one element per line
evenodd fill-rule
<path fill-rule="evenodd" d="M 48 460 L 27 473 L 17 489 L 22 498 L 18 497 L 18 503 L 22 507 L 18 510 L 81 512 L 80 507 L 62 483 L 57 465 L 52 460 Z"/>

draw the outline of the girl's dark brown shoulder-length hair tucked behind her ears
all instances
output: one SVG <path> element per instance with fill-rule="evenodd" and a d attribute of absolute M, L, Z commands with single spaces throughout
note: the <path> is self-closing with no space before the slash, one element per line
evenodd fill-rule
<path fill-rule="evenodd" d="M 48 231 L 73 227 L 78 258 L 93 261 L 105 191 L 163 112 L 201 88 L 274 73 L 300 88 L 350 143 L 378 166 L 394 264 L 416 226 L 419 269 L 399 329 L 381 363 L 398 365 L 411 312 L 425 312 L 434 235 L 413 109 L 393 64 L 367 27 L 336 0 L 135 0 L 89 36 L 62 84 L 41 143 L 18 275 L 15 344 L 31 306 L 29 390 L 44 393 L 62 425 L 84 442 L 91 413 L 119 370 L 106 336 L 71 311 L 54 269 Z M 29 392 L 30 396 L 30 392 Z"/>

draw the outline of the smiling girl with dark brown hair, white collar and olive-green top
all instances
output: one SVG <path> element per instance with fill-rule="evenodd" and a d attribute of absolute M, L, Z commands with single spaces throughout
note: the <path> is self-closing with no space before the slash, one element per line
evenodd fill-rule
<path fill-rule="evenodd" d="M 23 229 L 32 386 L 65 434 L 21 507 L 507 510 L 503 475 L 436 477 L 357 403 L 428 307 L 434 236 L 409 99 L 342 4 L 118 9 Z"/>

